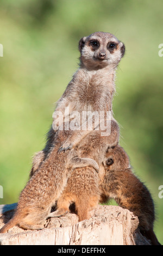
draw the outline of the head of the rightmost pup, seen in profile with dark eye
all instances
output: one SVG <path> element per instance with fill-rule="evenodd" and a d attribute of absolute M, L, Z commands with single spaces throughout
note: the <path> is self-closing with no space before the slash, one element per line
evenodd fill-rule
<path fill-rule="evenodd" d="M 126 151 L 116 145 L 106 152 L 103 165 L 106 170 L 125 170 L 130 168 L 130 161 Z"/>

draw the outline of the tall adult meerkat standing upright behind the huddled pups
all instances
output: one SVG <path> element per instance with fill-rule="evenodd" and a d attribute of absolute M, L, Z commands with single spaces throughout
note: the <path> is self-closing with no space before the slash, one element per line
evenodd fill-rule
<path fill-rule="evenodd" d="M 95 32 L 80 39 L 79 52 L 79 69 L 59 99 L 55 112 L 60 111 L 63 118 L 66 107 L 69 107 L 70 113 L 78 111 L 81 114 L 87 110 L 112 112 L 115 72 L 125 53 L 123 42 L 110 33 Z M 34 156 L 30 176 L 40 168 L 55 145 L 55 132 L 58 129 L 55 121 L 54 118 L 54 125 L 47 133 L 45 148 Z M 86 131 L 82 132 L 82 135 L 85 133 Z M 74 132 L 60 150 L 64 151 L 76 145 L 80 136 L 81 132 Z"/>

